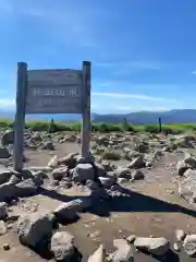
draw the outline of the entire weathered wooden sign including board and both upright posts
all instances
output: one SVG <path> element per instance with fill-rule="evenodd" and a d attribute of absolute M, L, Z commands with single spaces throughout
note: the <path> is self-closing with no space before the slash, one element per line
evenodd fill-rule
<path fill-rule="evenodd" d="M 23 168 L 23 133 L 26 114 L 82 114 L 82 156 L 90 146 L 90 62 L 82 70 L 27 70 L 17 63 L 14 124 L 14 169 Z"/>

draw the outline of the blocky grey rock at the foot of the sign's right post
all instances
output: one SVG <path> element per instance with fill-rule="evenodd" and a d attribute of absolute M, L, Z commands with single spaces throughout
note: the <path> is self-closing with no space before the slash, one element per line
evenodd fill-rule
<path fill-rule="evenodd" d="M 73 180 L 84 182 L 95 180 L 95 169 L 90 164 L 78 164 L 73 172 Z"/>

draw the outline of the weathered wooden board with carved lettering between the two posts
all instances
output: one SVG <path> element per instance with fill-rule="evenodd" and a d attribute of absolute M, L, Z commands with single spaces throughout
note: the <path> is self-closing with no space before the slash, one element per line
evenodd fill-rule
<path fill-rule="evenodd" d="M 30 70 L 26 114 L 82 114 L 82 70 Z"/>

